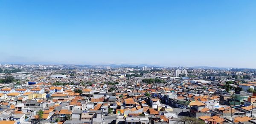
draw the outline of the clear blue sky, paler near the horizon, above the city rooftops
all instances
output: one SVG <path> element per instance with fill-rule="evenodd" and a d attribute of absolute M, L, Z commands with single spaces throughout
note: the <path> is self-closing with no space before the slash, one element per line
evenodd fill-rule
<path fill-rule="evenodd" d="M 256 68 L 256 0 L 0 0 L 0 63 Z"/>

